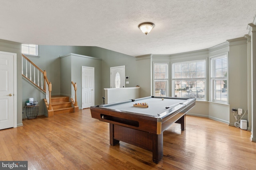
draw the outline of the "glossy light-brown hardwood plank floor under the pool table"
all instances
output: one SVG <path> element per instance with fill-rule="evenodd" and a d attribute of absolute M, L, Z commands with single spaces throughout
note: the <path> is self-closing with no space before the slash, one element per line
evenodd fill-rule
<path fill-rule="evenodd" d="M 0 131 L 0 160 L 27 160 L 37 170 L 253 170 L 256 143 L 251 133 L 208 118 L 187 116 L 186 130 L 174 123 L 164 131 L 164 157 L 121 142 L 110 146 L 109 124 L 90 109 L 25 119 Z"/>

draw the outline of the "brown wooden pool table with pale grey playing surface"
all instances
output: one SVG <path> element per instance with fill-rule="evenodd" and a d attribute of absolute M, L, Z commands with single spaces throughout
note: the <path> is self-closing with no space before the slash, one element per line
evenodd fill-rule
<path fill-rule="evenodd" d="M 148 107 L 134 104 L 147 103 Z M 172 123 L 186 129 L 186 112 L 196 99 L 146 97 L 90 107 L 93 118 L 110 124 L 110 145 L 123 141 L 150 150 L 153 162 L 163 157 L 163 132 Z"/>

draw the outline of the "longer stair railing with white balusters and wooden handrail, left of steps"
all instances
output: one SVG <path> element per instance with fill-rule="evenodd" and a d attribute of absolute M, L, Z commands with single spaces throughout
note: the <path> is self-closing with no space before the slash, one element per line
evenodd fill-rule
<path fill-rule="evenodd" d="M 46 100 L 49 110 L 51 110 L 52 83 L 48 81 L 46 70 L 41 70 L 38 66 L 36 66 L 36 64 L 22 54 L 22 76 L 46 93 Z"/>

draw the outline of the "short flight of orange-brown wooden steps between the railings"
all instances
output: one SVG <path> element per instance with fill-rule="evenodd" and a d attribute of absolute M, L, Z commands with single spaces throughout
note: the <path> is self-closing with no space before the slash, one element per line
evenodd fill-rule
<path fill-rule="evenodd" d="M 52 109 L 54 115 L 74 112 L 68 96 L 52 96 Z"/>

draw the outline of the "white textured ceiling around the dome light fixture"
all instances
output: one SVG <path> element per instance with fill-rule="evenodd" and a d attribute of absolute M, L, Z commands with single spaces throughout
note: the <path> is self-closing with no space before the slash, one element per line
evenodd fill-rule
<path fill-rule="evenodd" d="M 255 0 L 0 0 L 0 39 L 175 54 L 243 37 L 255 14 Z"/>

